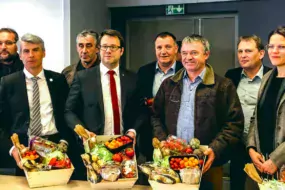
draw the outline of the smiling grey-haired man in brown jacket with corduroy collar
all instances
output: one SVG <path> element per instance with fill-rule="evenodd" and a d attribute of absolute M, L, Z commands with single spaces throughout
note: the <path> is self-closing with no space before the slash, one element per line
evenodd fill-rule
<path fill-rule="evenodd" d="M 154 99 L 154 136 L 163 140 L 173 134 L 187 141 L 195 137 L 208 145 L 203 181 L 221 190 L 222 164 L 242 136 L 241 104 L 233 83 L 216 75 L 206 63 L 210 56 L 207 39 L 185 37 L 181 55 L 184 69 L 166 79 Z"/>

